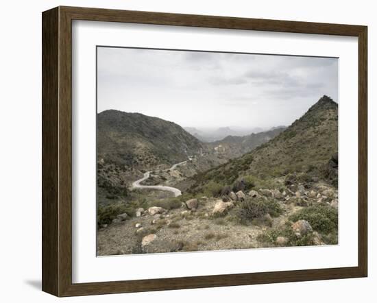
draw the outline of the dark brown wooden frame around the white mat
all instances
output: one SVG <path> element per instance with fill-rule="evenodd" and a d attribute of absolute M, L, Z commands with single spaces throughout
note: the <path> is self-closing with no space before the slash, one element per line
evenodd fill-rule
<path fill-rule="evenodd" d="M 358 266 L 72 283 L 72 21 L 112 21 L 358 37 Z M 42 13 L 42 290 L 57 296 L 367 276 L 367 27 L 58 7 Z"/>

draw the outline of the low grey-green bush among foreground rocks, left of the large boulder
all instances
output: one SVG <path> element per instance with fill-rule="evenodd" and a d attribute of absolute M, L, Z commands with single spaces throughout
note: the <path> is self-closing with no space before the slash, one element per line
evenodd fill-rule
<path fill-rule="evenodd" d="M 274 200 L 247 199 L 239 205 L 238 217 L 241 222 L 246 222 L 267 214 L 271 217 L 278 217 L 281 213 L 282 208 Z"/>

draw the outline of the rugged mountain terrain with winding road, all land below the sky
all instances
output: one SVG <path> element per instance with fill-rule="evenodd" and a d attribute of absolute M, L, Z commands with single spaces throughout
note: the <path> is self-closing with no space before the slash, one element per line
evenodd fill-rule
<path fill-rule="evenodd" d="M 335 101 L 288 127 L 220 133 L 97 114 L 97 254 L 337 244 Z"/>

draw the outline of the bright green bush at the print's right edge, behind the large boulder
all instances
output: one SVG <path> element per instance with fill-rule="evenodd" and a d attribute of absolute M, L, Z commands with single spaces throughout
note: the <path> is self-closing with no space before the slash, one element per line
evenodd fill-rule
<path fill-rule="evenodd" d="M 338 229 L 338 211 L 331 206 L 309 206 L 294 213 L 289 219 L 293 222 L 306 220 L 314 230 L 324 234 L 337 232 Z"/>

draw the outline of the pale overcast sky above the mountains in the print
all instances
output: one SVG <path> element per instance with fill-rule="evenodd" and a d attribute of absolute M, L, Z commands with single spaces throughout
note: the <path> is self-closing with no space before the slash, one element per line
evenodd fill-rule
<path fill-rule="evenodd" d="M 338 101 L 338 60 L 98 47 L 98 112 L 141 112 L 195 128 L 290 125 L 322 95 Z"/>

